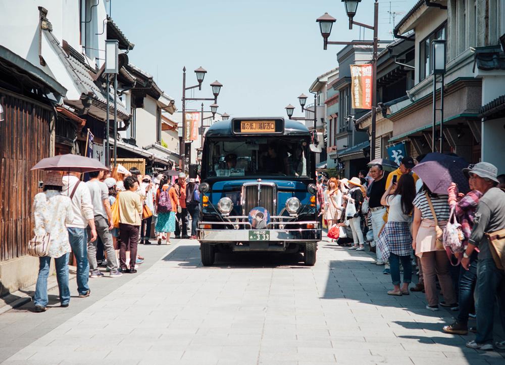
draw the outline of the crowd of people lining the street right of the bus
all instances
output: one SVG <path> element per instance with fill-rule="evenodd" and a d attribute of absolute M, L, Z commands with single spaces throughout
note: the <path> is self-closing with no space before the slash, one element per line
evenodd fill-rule
<path fill-rule="evenodd" d="M 498 175 L 494 165 L 479 162 L 463 169 L 470 187 L 467 194 L 460 193 L 455 183 L 447 194 L 436 194 L 412 171 L 424 157 L 405 157 L 390 173 L 375 164 L 349 180 L 320 174 L 317 201 L 323 226 L 330 238 L 337 237 L 337 244 L 349 250 L 363 251 L 368 241 L 376 252 L 372 263 L 384 265 L 383 273 L 391 275 L 388 295 L 423 292 L 426 309 L 459 310 L 456 322 L 444 326 L 443 332 L 475 332 L 467 347 L 505 349 L 505 341 L 493 343 L 496 307 L 505 329 L 505 271 L 493 257 L 490 238 L 505 230 L 505 175 Z M 446 249 L 443 242 L 452 212 L 461 224 L 459 252 Z M 409 290 L 415 267 L 419 280 Z M 468 327 L 469 317 L 476 317 L 476 327 Z"/>

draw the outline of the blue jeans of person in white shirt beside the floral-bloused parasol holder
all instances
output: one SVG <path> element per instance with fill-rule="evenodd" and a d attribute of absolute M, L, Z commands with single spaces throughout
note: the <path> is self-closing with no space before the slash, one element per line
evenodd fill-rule
<path fill-rule="evenodd" d="M 85 228 L 68 227 L 70 247 L 77 261 L 77 291 L 86 294 L 89 290 L 88 237 Z"/>

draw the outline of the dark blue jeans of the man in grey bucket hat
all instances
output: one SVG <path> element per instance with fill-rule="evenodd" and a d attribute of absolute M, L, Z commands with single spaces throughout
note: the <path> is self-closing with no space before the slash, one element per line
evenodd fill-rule
<path fill-rule="evenodd" d="M 486 242 L 487 244 L 487 242 Z M 505 273 L 496 268 L 492 258 L 480 259 L 477 265 L 477 336 L 479 344 L 493 342 L 494 305 L 498 301 L 498 313 L 505 328 Z"/>

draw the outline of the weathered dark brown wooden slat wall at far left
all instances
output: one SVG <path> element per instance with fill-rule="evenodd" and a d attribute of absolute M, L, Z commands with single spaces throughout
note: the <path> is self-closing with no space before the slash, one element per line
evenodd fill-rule
<path fill-rule="evenodd" d="M 51 110 L 0 91 L 0 261 L 26 255 L 33 234 L 32 201 L 40 171 L 30 171 L 50 155 Z"/>

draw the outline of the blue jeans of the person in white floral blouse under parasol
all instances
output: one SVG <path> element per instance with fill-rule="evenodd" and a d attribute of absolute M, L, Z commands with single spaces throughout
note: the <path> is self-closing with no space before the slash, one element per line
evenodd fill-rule
<path fill-rule="evenodd" d="M 55 258 L 56 279 L 58 280 L 58 289 L 60 289 L 60 303 L 68 304 L 70 302 L 70 289 L 68 288 L 68 256 L 65 255 Z M 38 278 L 35 287 L 34 305 L 45 307 L 47 305 L 47 277 L 49 276 L 49 266 L 51 257 L 39 257 Z"/>

